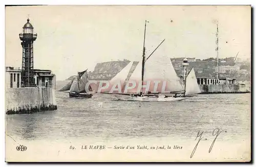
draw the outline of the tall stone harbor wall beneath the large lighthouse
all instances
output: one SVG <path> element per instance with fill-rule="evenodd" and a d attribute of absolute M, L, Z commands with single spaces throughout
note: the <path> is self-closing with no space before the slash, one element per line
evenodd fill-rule
<path fill-rule="evenodd" d="M 57 109 L 53 88 L 6 88 L 6 114 L 29 114 Z"/>

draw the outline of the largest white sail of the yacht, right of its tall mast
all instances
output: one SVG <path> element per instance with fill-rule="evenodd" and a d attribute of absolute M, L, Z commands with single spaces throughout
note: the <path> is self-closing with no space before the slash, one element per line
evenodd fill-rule
<path fill-rule="evenodd" d="M 184 91 L 172 62 L 166 56 L 152 55 L 148 58 L 144 67 L 144 80 L 151 80 L 151 84 L 154 84 L 154 80 L 160 81 L 157 89 L 159 93 Z M 154 87 L 151 86 L 149 91 L 154 92 Z"/>

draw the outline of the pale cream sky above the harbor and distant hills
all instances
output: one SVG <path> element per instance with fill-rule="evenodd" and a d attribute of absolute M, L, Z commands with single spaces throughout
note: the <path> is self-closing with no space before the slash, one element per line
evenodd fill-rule
<path fill-rule="evenodd" d="M 24 6 L 6 7 L 6 66 L 22 66 L 19 33 L 34 27 L 34 68 L 49 69 L 57 80 L 93 71 L 97 63 L 149 55 L 170 58 L 248 59 L 251 51 L 250 6 Z"/>

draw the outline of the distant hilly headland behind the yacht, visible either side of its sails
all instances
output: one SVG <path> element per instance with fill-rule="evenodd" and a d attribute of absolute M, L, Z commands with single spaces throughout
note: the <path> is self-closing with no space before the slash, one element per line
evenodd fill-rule
<path fill-rule="evenodd" d="M 178 76 L 182 76 L 182 61 L 184 58 L 171 59 L 173 66 Z M 234 62 L 234 58 L 225 58 L 219 60 L 219 77 L 237 78 L 237 80 L 250 80 L 250 63 L 249 62 Z M 217 61 L 214 58 L 205 60 L 188 58 L 189 67 L 195 68 L 197 77 L 215 77 Z M 120 72 L 128 63 L 129 60 L 113 61 L 98 63 L 94 71 L 89 71 L 90 80 L 110 80 L 118 72 Z M 74 76 L 69 77 L 71 80 Z"/>

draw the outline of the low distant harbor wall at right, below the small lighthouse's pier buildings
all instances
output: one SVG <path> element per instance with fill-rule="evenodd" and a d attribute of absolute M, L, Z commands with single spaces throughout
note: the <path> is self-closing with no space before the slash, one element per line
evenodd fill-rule
<path fill-rule="evenodd" d="M 246 85 L 199 85 L 202 94 L 210 93 L 249 93 Z"/>

